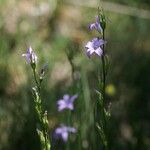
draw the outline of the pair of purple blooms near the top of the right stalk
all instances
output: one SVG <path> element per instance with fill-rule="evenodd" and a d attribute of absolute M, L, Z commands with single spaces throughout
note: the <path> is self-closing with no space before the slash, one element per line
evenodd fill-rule
<path fill-rule="evenodd" d="M 103 29 L 101 27 L 99 16 L 96 16 L 95 23 L 91 23 L 89 25 L 89 29 L 95 29 L 99 33 L 102 33 Z M 106 41 L 100 39 L 99 37 L 93 38 L 91 41 L 87 42 L 87 44 L 85 45 L 87 56 L 91 58 L 92 55 L 96 54 L 97 56 L 101 57 L 103 55 L 102 45 L 104 45 L 105 43 Z"/>

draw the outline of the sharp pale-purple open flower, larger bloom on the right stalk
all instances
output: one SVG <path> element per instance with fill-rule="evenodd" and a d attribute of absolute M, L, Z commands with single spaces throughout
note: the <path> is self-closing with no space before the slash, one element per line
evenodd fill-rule
<path fill-rule="evenodd" d="M 101 48 L 101 46 L 103 44 L 105 44 L 106 42 L 102 39 L 99 39 L 99 38 L 93 38 L 92 41 L 89 41 L 85 48 L 87 49 L 87 56 L 90 58 L 91 55 L 93 55 L 94 53 L 98 56 L 102 56 L 103 54 L 103 50 Z"/>

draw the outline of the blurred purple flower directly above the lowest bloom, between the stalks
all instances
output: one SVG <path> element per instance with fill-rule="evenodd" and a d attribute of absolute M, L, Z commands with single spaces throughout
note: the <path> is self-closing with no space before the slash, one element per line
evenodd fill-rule
<path fill-rule="evenodd" d="M 69 96 L 68 94 L 65 94 L 63 96 L 63 99 L 58 100 L 57 105 L 58 105 L 58 111 L 62 111 L 64 109 L 70 109 L 73 110 L 73 102 L 77 98 L 77 95 Z"/>

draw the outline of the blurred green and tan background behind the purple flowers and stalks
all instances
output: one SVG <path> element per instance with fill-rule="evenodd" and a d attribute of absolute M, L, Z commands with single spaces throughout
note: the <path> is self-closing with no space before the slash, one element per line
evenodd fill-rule
<path fill-rule="evenodd" d="M 89 60 L 84 45 L 97 36 L 88 31 L 95 21 L 97 1 L 0 0 L 0 150 L 39 150 L 31 68 L 21 57 L 30 45 L 38 68 L 48 64 L 43 82 L 43 105 L 52 137 L 66 122 L 57 112 L 64 94 L 78 93 L 70 136 L 71 150 L 96 149 L 93 105 L 99 62 Z M 102 5 L 107 16 L 106 51 L 110 57 L 107 100 L 111 102 L 109 140 L 113 150 L 150 149 L 150 1 L 112 0 Z M 72 55 L 72 66 L 67 55 Z M 65 144 L 52 139 L 53 149 Z"/>

